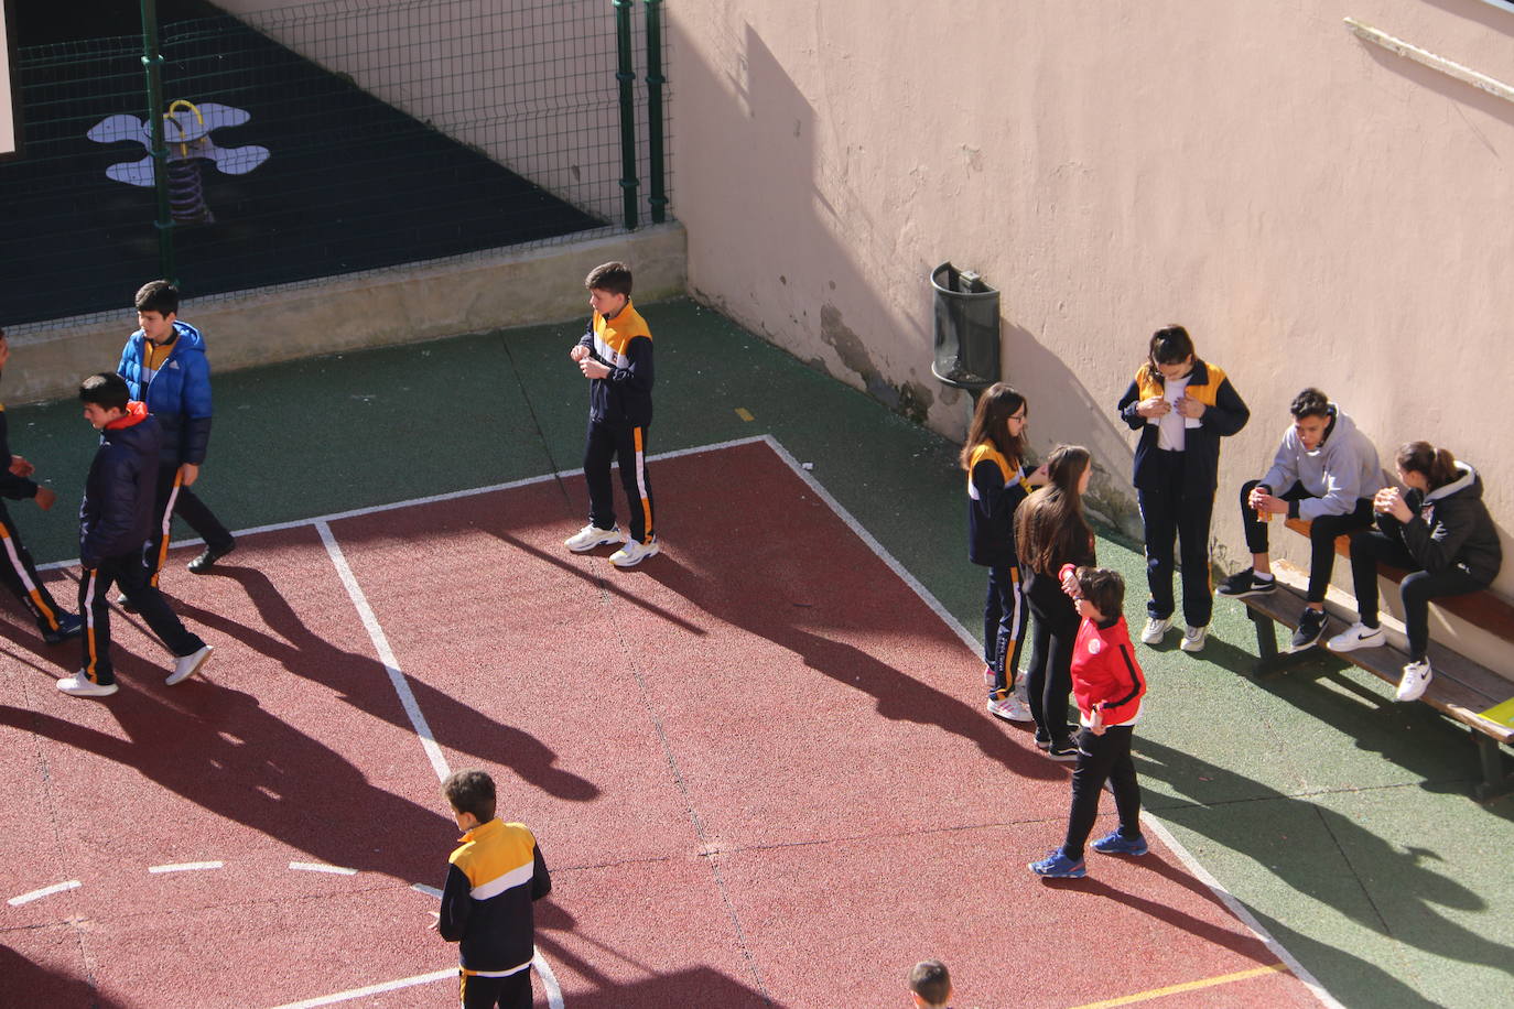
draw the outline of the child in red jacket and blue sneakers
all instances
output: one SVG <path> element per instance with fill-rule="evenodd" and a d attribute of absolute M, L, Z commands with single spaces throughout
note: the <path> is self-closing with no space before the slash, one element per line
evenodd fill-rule
<path fill-rule="evenodd" d="M 1061 569 L 1064 590 L 1073 598 L 1083 625 L 1072 652 L 1072 693 L 1078 700 L 1083 732 L 1078 767 L 1072 773 L 1072 811 L 1061 847 L 1030 870 L 1057 879 L 1087 874 L 1083 846 L 1099 815 L 1099 791 L 1108 781 L 1120 826 L 1093 843 L 1105 855 L 1145 855 L 1140 832 L 1140 785 L 1131 759 L 1131 731 L 1140 717 L 1146 676 L 1136 663 L 1125 626 L 1125 579 L 1104 567 Z"/>

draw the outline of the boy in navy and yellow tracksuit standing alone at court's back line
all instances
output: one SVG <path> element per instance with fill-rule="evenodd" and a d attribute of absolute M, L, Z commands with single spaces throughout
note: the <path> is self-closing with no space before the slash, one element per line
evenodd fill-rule
<path fill-rule="evenodd" d="M 631 306 L 631 268 L 604 263 L 584 278 L 593 318 L 569 351 L 589 380 L 589 433 L 583 477 L 589 484 L 589 523 L 563 540 L 575 554 L 622 543 L 615 523 L 610 463 L 621 461 L 621 484 L 630 510 L 630 539 L 610 555 L 616 567 L 634 567 L 657 554 L 653 487 L 646 475 L 646 433 L 653 422 L 653 334 Z"/>

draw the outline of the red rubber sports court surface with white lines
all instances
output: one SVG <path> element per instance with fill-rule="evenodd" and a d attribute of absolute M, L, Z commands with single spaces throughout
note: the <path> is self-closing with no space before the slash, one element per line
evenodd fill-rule
<path fill-rule="evenodd" d="M 553 868 L 540 1006 L 908 1004 L 925 956 L 961 1006 L 1317 1001 L 1160 826 L 1084 880 L 1025 870 L 1070 768 L 774 443 L 653 480 L 663 552 L 628 572 L 562 549 L 577 477 L 244 534 L 218 576 L 177 551 L 217 655 L 174 688 L 118 617 L 121 693 L 65 697 L 77 647 L 8 607 L 0 1004 L 454 1003 L 416 885 L 459 767 Z"/>

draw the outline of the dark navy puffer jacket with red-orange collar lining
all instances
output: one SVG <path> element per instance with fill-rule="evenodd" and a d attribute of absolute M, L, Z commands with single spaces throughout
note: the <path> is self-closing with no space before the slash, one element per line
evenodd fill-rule
<path fill-rule="evenodd" d="M 100 433 L 79 505 L 79 560 L 98 567 L 109 557 L 141 551 L 153 534 L 162 427 L 141 402 Z"/>

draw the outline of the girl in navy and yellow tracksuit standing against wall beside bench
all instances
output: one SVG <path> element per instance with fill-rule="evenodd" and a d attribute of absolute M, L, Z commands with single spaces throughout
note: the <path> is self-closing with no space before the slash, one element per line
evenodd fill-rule
<path fill-rule="evenodd" d="M 1120 419 L 1140 431 L 1136 445 L 1136 499 L 1146 532 L 1146 626 L 1142 641 L 1158 644 L 1172 626 L 1173 543 L 1182 549 L 1179 647 L 1198 652 L 1208 634 L 1210 519 L 1219 481 L 1220 439 L 1235 434 L 1251 410 L 1225 372 L 1193 352 L 1181 325 L 1157 330 L 1146 363 L 1120 396 Z"/>

